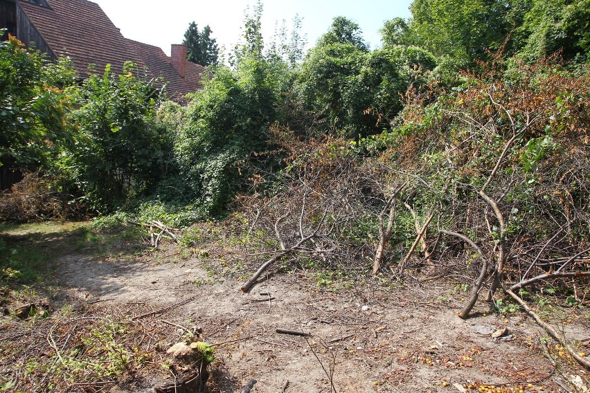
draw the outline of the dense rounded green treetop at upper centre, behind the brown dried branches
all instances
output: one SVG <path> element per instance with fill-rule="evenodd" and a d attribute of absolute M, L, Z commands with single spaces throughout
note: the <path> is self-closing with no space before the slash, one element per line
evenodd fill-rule
<path fill-rule="evenodd" d="M 321 44 L 305 59 L 297 89 L 312 112 L 325 116 L 325 131 L 367 136 L 388 127 L 404 107 L 406 89 L 426 82 L 435 64 L 432 55 L 415 47 L 366 53 L 352 44 Z"/>

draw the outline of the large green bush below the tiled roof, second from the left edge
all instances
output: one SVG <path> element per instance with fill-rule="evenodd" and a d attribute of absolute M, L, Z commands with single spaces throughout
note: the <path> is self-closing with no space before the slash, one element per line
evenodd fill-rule
<path fill-rule="evenodd" d="M 125 205 L 154 188 L 166 174 L 172 141 L 155 118 L 159 91 L 137 76 L 134 64 L 123 75 L 92 75 L 71 113 L 76 144 L 61 156 L 61 170 L 98 211 Z"/>

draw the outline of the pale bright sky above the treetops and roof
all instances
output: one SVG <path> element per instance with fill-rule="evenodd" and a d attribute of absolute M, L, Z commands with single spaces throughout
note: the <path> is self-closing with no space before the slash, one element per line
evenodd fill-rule
<path fill-rule="evenodd" d="M 244 10 L 255 0 L 92 0 L 120 28 L 126 38 L 159 46 L 170 55 L 170 44 L 181 44 L 191 21 L 199 30 L 209 25 L 217 44 L 228 51 L 238 43 L 244 22 Z M 274 35 L 275 26 L 293 18 L 303 18 L 301 33 L 307 34 L 307 48 L 325 33 L 334 17 L 343 16 L 359 24 L 371 48 L 380 46 L 379 28 L 394 17 L 407 18 L 411 0 L 295 0 L 263 1 L 262 33 L 265 42 Z"/>

